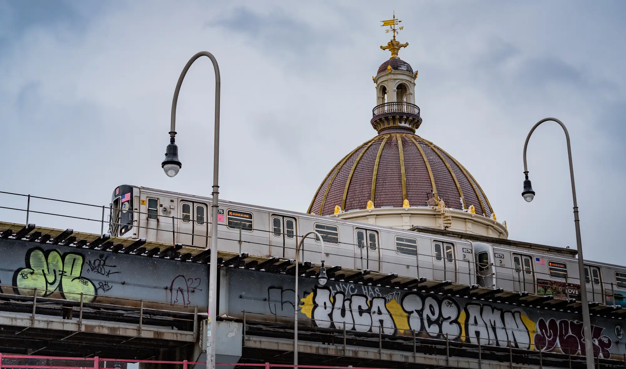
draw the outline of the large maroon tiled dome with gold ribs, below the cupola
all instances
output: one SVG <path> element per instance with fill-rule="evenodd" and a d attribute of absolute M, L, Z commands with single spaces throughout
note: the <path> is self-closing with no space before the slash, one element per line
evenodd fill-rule
<path fill-rule="evenodd" d="M 439 196 L 448 208 L 468 209 L 491 216 L 487 196 L 456 159 L 435 144 L 409 132 L 379 134 L 347 154 L 327 174 L 307 213 L 331 215 L 342 211 L 426 206 Z"/>

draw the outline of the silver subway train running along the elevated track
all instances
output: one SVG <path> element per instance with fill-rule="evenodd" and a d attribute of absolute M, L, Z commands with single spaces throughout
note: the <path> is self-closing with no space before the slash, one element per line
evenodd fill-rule
<path fill-rule="evenodd" d="M 122 185 L 113 191 L 110 233 L 162 243 L 209 245 L 210 198 Z M 415 227 L 402 230 L 220 200 L 220 250 L 295 259 L 301 236 L 317 231 L 327 266 L 579 298 L 576 251 Z M 321 243 L 305 239 L 302 260 L 319 263 Z M 301 261 L 302 261 L 301 260 Z M 626 306 L 626 267 L 585 261 L 589 301 Z M 624 296 L 624 297 L 620 297 Z"/>

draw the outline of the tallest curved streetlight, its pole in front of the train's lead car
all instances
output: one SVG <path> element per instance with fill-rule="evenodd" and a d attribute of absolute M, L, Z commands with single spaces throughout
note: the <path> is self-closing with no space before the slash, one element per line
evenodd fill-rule
<path fill-rule="evenodd" d="M 172 100 L 172 123 L 170 126 L 170 143 L 167 145 L 165 151 L 165 160 L 161 163 L 161 167 L 170 177 L 178 174 L 178 171 L 182 167 L 182 163 L 178 159 L 178 146 L 175 143 L 176 136 L 176 104 L 178 102 L 178 93 L 180 92 L 180 86 L 183 84 L 185 74 L 192 66 L 193 62 L 200 56 L 207 56 L 213 63 L 213 69 L 215 69 L 215 132 L 213 134 L 213 192 L 211 194 L 211 262 L 210 262 L 210 275 L 208 278 L 208 330 L 207 330 L 207 369 L 215 369 L 215 335 L 217 331 L 217 210 L 218 210 L 218 188 L 217 185 L 219 163 L 220 163 L 220 68 L 217 66 L 217 60 L 215 56 L 208 51 L 200 51 L 200 53 L 192 56 L 191 59 L 183 68 L 176 89 L 174 90 L 174 98 Z"/>

